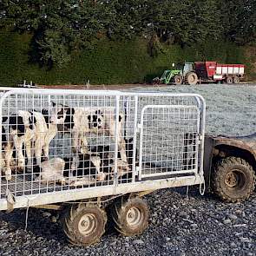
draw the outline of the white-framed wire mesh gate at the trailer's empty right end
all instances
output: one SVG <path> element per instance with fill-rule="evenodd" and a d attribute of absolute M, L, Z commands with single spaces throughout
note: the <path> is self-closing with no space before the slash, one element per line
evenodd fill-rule
<path fill-rule="evenodd" d="M 141 178 L 198 172 L 200 111 L 151 105 L 141 115 Z"/>

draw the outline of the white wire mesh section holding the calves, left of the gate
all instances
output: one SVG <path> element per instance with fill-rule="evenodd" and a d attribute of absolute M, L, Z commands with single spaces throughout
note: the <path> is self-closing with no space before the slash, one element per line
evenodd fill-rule
<path fill-rule="evenodd" d="M 115 93 L 16 91 L 6 96 L 1 197 L 131 181 L 125 117 L 118 102 Z"/>

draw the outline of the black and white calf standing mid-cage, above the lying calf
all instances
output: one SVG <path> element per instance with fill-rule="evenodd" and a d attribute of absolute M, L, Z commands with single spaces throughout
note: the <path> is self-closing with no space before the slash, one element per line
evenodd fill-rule
<path fill-rule="evenodd" d="M 115 139 L 115 109 L 114 108 L 70 108 L 53 104 L 50 121 L 62 125 L 64 131 L 70 131 L 72 136 L 73 161 L 71 170 L 77 168 L 78 154 L 90 154 L 88 148 L 89 134 L 108 135 Z M 124 116 L 120 114 L 117 120 L 117 143 L 121 154 L 119 166 L 128 167 L 125 140 L 122 137 Z"/>

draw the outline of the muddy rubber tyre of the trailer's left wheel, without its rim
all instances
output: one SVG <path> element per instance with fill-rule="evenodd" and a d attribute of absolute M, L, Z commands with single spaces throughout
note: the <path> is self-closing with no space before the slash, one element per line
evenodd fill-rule
<path fill-rule="evenodd" d="M 78 229 L 79 220 L 85 213 L 93 213 L 97 221 L 95 230 L 88 236 L 82 235 Z M 105 233 L 106 223 L 106 212 L 94 204 L 75 204 L 67 209 L 62 220 L 63 231 L 69 243 L 75 246 L 90 246 L 97 243 Z"/>

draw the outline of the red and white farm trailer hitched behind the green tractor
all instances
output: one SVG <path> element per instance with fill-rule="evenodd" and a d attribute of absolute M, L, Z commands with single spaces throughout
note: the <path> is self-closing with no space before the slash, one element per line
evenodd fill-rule
<path fill-rule="evenodd" d="M 217 62 L 194 62 L 194 75 L 199 82 L 239 83 L 245 74 L 245 65 L 220 64 Z"/>

